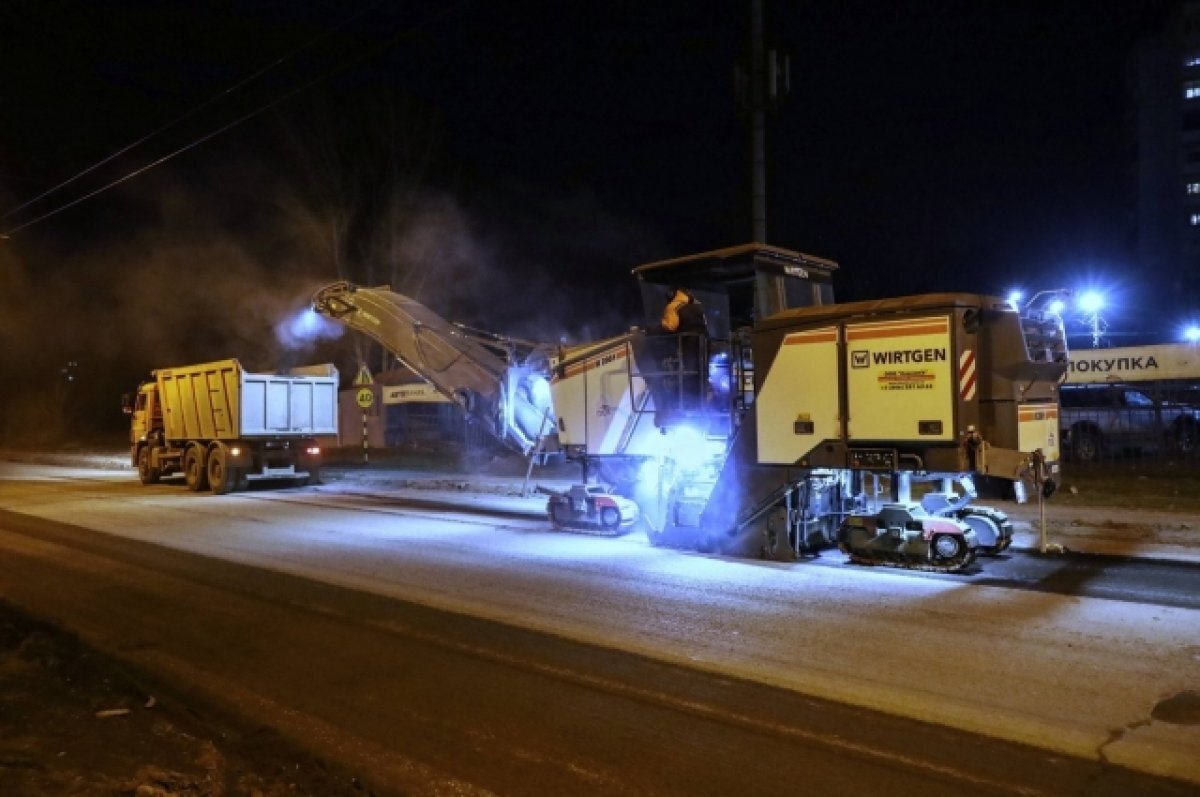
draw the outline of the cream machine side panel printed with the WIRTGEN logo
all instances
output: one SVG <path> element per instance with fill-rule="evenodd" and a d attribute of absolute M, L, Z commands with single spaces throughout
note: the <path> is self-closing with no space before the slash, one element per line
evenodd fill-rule
<path fill-rule="evenodd" d="M 953 441 L 953 352 L 948 316 L 847 324 L 850 441 Z"/>

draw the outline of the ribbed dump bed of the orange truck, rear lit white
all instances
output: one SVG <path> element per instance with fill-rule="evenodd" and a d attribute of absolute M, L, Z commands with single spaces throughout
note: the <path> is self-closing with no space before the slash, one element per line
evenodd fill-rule
<path fill-rule="evenodd" d="M 154 372 L 169 441 L 337 433 L 337 370 L 251 373 L 238 360 Z"/>

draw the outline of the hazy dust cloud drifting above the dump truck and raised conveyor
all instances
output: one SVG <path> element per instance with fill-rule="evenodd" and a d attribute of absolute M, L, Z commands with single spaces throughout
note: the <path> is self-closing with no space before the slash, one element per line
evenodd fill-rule
<path fill-rule="evenodd" d="M 629 269 L 662 256 L 587 192 L 463 204 L 422 190 L 355 232 L 282 180 L 217 178 L 208 191 L 167 172 L 140 184 L 122 198 L 136 234 L 65 244 L 48 227 L 0 241 L 0 444 L 119 436 L 121 394 L 158 367 L 331 361 L 346 377 L 385 362 L 361 336 L 305 320 L 337 280 L 390 283 L 449 319 L 557 343 L 636 322 Z"/>

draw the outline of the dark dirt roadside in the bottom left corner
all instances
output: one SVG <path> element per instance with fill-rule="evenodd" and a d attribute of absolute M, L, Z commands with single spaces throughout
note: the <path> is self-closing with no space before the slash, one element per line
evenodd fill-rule
<path fill-rule="evenodd" d="M 0 600 L 0 793 L 313 797 L 371 790 Z"/>

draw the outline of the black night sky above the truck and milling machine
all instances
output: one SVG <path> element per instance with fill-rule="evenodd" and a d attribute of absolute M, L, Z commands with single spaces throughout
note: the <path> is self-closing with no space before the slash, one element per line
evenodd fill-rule
<path fill-rule="evenodd" d="M 838 260 L 844 300 L 1094 281 L 1114 331 L 1165 338 L 1123 71 L 1166 0 L 764 5 L 792 61 L 769 242 Z M 7 2 L 0 232 L 53 214 L 0 240 L 7 389 L 274 367 L 272 328 L 340 276 L 619 331 L 630 268 L 750 239 L 749 28 L 749 2 Z"/>

